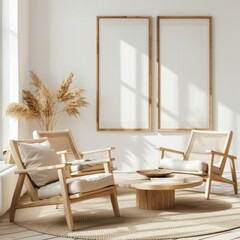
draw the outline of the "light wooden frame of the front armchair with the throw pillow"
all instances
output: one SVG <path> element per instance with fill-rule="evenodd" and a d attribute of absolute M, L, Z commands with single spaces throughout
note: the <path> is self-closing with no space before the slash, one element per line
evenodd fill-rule
<path fill-rule="evenodd" d="M 11 140 L 10 141 L 11 151 L 12 151 L 14 160 L 16 162 L 16 165 L 18 167 L 18 170 L 15 173 L 19 174 L 18 182 L 15 188 L 15 192 L 14 192 L 11 207 L 10 207 L 10 221 L 14 221 L 16 209 L 63 204 L 68 228 L 70 230 L 74 230 L 71 204 L 84 201 L 87 199 L 91 199 L 91 198 L 106 196 L 106 195 L 110 196 L 112 208 L 115 216 L 120 216 L 118 201 L 117 201 L 116 185 L 111 185 L 105 188 L 89 191 L 86 193 L 78 193 L 78 194 L 70 195 L 68 193 L 68 188 L 66 184 L 66 179 L 68 178 L 67 176 L 68 174 L 66 173 L 66 165 L 69 165 L 71 163 L 52 165 L 47 167 L 30 168 L 30 169 L 25 168 L 25 165 L 23 164 L 20 153 L 19 153 L 18 143 L 41 143 L 46 140 L 47 138 L 36 139 L 36 140 L 31 139 L 31 140 Z M 40 200 L 38 198 L 37 187 L 32 182 L 28 173 L 45 171 L 45 170 L 54 170 L 54 169 L 58 171 L 58 177 L 61 185 L 62 196 L 56 196 L 49 199 Z M 31 199 L 28 202 L 20 201 L 20 194 L 24 184 L 27 188 L 28 194 Z"/>

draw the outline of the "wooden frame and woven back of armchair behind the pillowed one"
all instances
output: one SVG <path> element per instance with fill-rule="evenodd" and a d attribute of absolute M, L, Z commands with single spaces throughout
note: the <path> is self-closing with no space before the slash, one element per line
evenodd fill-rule
<path fill-rule="evenodd" d="M 53 149 L 56 152 L 65 155 L 63 158 L 65 162 L 70 162 L 70 155 L 72 155 L 75 159 L 72 161 L 73 165 L 91 165 L 91 167 L 86 170 L 71 172 L 72 176 L 112 172 L 113 170 L 112 161 L 114 161 L 115 158 L 112 157 L 112 150 L 114 150 L 115 147 L 80 152 L 69 129 L 55 131 L 34 131 L 33 137 L 35 139 L 47 137 Z M 105 159 L 101 160 L 91 160 L 86 162 L 78 161 L 96 153 L 106 153 L 107 156 Z"/>

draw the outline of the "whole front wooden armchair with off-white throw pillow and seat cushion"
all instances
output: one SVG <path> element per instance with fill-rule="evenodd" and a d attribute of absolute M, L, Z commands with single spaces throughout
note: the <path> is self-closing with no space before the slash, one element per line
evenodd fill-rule
<path fill-rule="evenodd" d="M 11 140 L 10 148 L 18 167 L 18 181 L 10 207 L 10 221 L 19 208 L 63 204 L 68 228 L 74 230 L 71 204 L 109 195 L 115 216 L 120 216 L 116 185 L 111 173 L 71 178 L 47 138 Z M 25 184 L 30 200 L 21 199 Z"/>

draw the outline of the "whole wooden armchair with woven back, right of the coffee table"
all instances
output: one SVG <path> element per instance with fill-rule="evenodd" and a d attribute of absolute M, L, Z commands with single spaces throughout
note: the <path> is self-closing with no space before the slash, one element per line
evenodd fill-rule
<path fill-rule="evenodd" d="M 232 184 L 237 194 L 236 156 L 229 154 L 232 135 L 232 131 L 192 130 L 186 152 L 164 147 L 157 148 L 161 153 L 158 167 L 202 176 L 206 181 L 206 199 L 209 199 L 212 181 Z M 168 158 L 165 156 L 167 152 L 179 154 L 181 157 Z M 232 180 L 223 177 L 227 160 L 230 161 Z"/>

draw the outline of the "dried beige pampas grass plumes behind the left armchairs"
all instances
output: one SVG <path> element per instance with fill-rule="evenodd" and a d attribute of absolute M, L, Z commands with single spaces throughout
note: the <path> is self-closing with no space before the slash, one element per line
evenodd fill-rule
<path fill-rule="evenodd" d="M 73 74 L 70 73 L 61 83 L 56 94 L 52 94 L 34 72 L 30 72 L 34 91 L 23 90 L 23 103 L 11 103 L 6 109 L 6 115 L 24 120 L 35 120 L 42 130 L 54 128 L 63 113 L 69 116 L 79 116 L 79 108 L 88 103 L 82 96 L 84 90 L 72 88 Z"/>

